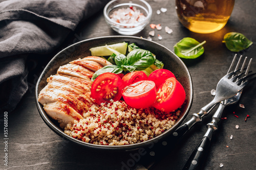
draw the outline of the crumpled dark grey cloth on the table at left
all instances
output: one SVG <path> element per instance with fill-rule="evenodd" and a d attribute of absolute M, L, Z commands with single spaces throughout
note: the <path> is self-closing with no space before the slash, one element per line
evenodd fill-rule
<path fill-rule="evenodd" d="M 28 90 L 28 54 L 49 54 L 109 0 L 0 0 L 0 115 Z"/>

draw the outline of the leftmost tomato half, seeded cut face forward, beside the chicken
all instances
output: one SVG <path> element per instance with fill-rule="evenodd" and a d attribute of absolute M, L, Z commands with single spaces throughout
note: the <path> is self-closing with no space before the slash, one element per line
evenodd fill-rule
<path fill-rule="evenodd" d="M 97 104 L 110 102 L 111 99 L 119 101 L 123 87 L 123 81 L 118 75 L 105 72 L 94 80 L 91 88 L 92 98 Z"/>

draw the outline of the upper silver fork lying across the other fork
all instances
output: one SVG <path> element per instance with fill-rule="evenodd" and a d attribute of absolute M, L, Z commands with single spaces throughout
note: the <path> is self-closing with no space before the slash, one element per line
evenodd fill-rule
<path fill-rule="evenodd" d="M 230 69 L 233 67 L 234 62 L 236 61 L 236 57 L 237 55 L 235 55 L 233 58 L 233 61 L 228 70 L 228 74 L 225 75 L 217 84 L 216 95 L 214 100 L 212 100 L 209 104 L 201 108 L 199 113 L 194 113 L 192 118 L 188 120 L 188 122 L 186 122 L 178 129 L 176 129 L 176 131 L 173 133 L 173 140 L 178 141 L 193 125 L 202 122 L 202 118 L 206 116 L 219 102 L 236 95 L 240 90 L 244 88 L 244 86 L 248 84 L 248 81 L 250 80 L 251 76 L 255 75 L 248 75 L 251 60 L 247 66 L 245 74 L 243 74 L 243 70 L 237 69 L 239 68 L 240 61 L 237 63 L 236 69 L 234 71 L 229 72 Z M 243 64 L 242 66 L 243 69 L 244 66 L 245 64 Z"/>

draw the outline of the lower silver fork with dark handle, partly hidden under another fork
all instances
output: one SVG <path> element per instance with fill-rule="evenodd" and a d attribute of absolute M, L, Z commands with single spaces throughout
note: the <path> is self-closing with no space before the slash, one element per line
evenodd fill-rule
<path fill-rule="evenodd" d="M 240 56 L 240 58 L 239 58 L 239 61 L 238 61 L 239 63 L 240 63 L 241 59 L 242 59 L 242 56 Z M 247 57 L 245 57 L 245 59 L 244 59 L 243 65 L 240 69 L 241 72 L 243 72 L 246 59 L 247 59 Z M 249 65 L 250 65 L 251 61 L 252 61 L 252 59 L 250 59 Z M 231 69 L 231 67 L 229 68 L 229 70 L 230 69 Z M 229 72 L 229 70 L 228 70 L 228 72 Z M 237 65 L 235 70 L 238 70 L 238 65 Z M 245 72 L 245 76 L 248 75 L 248 71 L 249 70 L 247 69 L 246 72 Z M 243 90 L 241 90 L 240 92 L 238 92 L 236 95 L 232 96 L 231 98 L 220 102 L 220 105 L 219 105 L 218 109 L 216 110 L 216 112 L 212 116 L 211 123 L 207 124 L 207 131 L 206 131 L 204 137 L 198 143 L 197 147 L 195 148 L 193 153 L 188 158 L 183 170 L 184 169 L 189 169 L 189 170 L 201 169 L 201 167 L 204 163 L 204 160 L 206 158 L 206 154 L 207 154 L 207 152 L 210 148 L 211 136 L 216 130 L 218 130 L 218 124 L 221 120 L 221 116 L 222 116 L 222 112 L 223 112 L 224 108 L 226 106 L 238 103 L 238 101 L 241 98 L 242 91 Z"/>

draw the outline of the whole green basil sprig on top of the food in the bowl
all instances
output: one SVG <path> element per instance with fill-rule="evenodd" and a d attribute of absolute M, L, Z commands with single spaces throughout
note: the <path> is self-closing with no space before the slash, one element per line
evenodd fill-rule
<path fill-rule="evenodd" d="M 118 54 L 112 56 L 111 60 L 115 60 L 116 65 L 106 65 L 97 70 L 92 77 L 92 81 L 104 72 L 120 74 L 122 71 L 144 70 L 155 62 L 156 57 L 150 51 L 136 49 L 130 52 L 127 57 L 123 54 Z"/>

